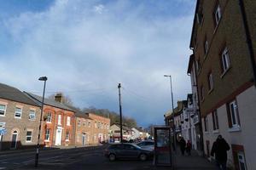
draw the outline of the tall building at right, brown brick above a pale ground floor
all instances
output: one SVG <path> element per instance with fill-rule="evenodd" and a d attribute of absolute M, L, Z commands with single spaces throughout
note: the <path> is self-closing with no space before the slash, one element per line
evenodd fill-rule
<path fill-rule="evenodd" d="M 198 0 L 190 41 L 204 152 L 222 134 L 234 169 L 256 169 L 255 8 L 253 0 Z"/>

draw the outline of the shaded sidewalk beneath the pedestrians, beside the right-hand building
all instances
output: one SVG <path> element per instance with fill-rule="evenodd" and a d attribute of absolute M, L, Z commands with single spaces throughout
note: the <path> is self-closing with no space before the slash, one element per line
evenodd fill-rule
<path fill-rule="evenodd" d="M 172 156 L 174 170 L 215 170 L 217 167 L 206 158 L 199 156 L 195 150 L 191 150 L 191 156 L 182 156 L 179 148 Z"/>

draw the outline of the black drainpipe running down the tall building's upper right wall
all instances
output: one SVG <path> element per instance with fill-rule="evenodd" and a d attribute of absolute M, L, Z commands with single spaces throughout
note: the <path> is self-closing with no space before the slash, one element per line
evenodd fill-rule
<path fill-rule="evenodd" d="M 248 50 L 250 53 L 250 60 L 252 63 L 252 69 L 253 69 L 253 82 L 254 82 L 254 86 L 256 88 L 256 64 L 255 64 L 255 55 L 254 55 L 254 51 L 253 51 L 253 42 L 251 39 L 251 33 L 249 30 L 249 26 L 248 26 L 248 22 L 247 22 L 247 14 L 246 14 L 246 9 L 244 7 L 244 2 L 243 0 L 239 0 L 239 7 L 241 10 L 241 18 L 242 18 L 242 22 L 243 22 L 243 26 L 245 29 L 245 34 L 246 34 L 246 38 L 247 38 L 247 45 L 248 45 Z"/>

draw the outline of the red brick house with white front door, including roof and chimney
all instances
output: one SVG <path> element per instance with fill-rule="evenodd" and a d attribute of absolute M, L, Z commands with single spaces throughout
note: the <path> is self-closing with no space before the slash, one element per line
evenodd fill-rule
<path fill-rule="evenodd" d="M 28 94 L 41 105 L 42 97 Z M 75 111 L 61 103 L 61 94 L 55 99 L 44 99 L 44 121 L 41 130 L 41 144 L 45 146 L 74 144 Z"/>

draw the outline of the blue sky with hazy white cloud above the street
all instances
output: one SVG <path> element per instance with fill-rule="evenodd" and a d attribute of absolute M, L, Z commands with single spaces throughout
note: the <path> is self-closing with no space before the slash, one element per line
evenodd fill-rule
<path fill-rule="evenodd" d="M 191 93 L 195 0 L 0 0 L 0 82 L 75 106 L 122 111 L 140 126 Z"/>

